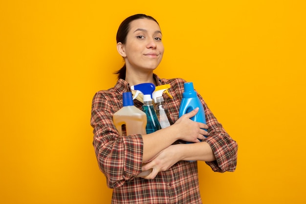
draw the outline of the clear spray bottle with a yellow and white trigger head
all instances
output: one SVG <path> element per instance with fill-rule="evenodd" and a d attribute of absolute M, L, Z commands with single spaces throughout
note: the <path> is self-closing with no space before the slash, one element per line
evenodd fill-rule
<path fill-rule="evenodd" d="M 167 104 L 165 104 L 165 100 L 163 97 L 163 92 L 165 92 L 170 98 L 173 98 L 168 91 L 169 88 L 170 84 L 160 85 L 155 87 L 155 91 L 152 93 L 152 98 L 155 103 L 154 109 L 161 128 L 166 128 L 174 124 L 174 122 L 170 118 Z"/>

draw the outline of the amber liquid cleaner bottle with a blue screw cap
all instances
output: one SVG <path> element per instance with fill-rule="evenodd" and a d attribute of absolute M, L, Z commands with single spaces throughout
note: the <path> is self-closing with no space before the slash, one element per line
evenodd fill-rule
<path fill-rule="evenodd" d="M 123 136 L 122 125 L 126 126 L 126 135 L 146 135 L 147 116 L 134 106 L 131 92 L 124 92 L 123 107 L 113 114 L 113 122 L 119 135 Z"/>

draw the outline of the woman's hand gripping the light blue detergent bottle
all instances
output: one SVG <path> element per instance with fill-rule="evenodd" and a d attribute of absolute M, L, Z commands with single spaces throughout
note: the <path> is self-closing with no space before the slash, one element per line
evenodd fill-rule
<path fill-rule="evenodd" d="M 190 118 L 195 116 L 198 112 L 198 108 L 190 113 L 182 115 L 173 125 L 177 130 L 178 139 L 182 139 L 188 142 L 200 142 L 204 136 L 209 136 L 209 133 L 203 129 L 208 129 L 208 126 L 204 123 L 195 122 Z"/>

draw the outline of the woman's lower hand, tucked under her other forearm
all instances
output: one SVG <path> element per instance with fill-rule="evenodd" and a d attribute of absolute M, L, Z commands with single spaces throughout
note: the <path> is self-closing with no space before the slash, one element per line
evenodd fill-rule
<path fill-rule="evenodd" d="M 161 151 L 155 158 L 142 166 L 142 171 L 146 172 L 140 176 L 144 179 L 154 179 L 158 172 L 166 171 L 179 161 L 179 145 L 170 145 Z M 150 174 L 148 174 L 151 171 Z"/>

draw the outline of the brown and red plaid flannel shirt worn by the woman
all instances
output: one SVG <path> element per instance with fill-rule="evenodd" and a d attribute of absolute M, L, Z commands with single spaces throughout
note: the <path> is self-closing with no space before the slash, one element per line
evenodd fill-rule
<path fill-rule="evenodd" d="M 154 74 L 157 86 L 170 84 L 173 99 L 164 94 L 171 119 L 178 119 L 184 91 L 183 79 L 160 79 Z M 136 178 L 142 167 L 143 140 L 141 135 L 119 136 L 112 115 L 122 108 L 122 93 L 131 91 L 130 85 L 119 79 L 115 87 L 97 92 L 92 101 L 91 126 L 93 146 L 100 170 L 113 188 L 112 204 L 200 204 L 197 162 L 178 161 L 167 171 L 159 172 L 153 180 Z M 198 94 L 205 110 L 210 144 L 216 160 L 206 162 L 213 171 L 235 171 L 238 145 L 223 129 Z M 142 102 L 134 100 L 141 110 Z M 187 145 L 187 144 L 186 144 Z"/>

